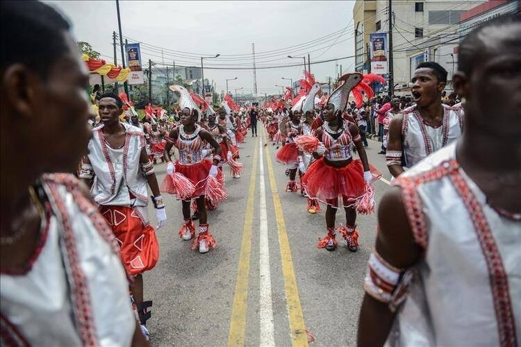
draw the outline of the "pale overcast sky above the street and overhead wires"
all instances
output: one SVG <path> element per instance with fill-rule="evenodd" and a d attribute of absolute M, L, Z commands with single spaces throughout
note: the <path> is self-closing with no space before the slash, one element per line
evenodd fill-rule
<path fill-rule="evenodd" d="M 112 33 L 118 31 L 115 1 L 46 1 L 72 22 L 78 41 L 87 41 L 104 59 L 113 61 Z M 220 58 L 204 60 L 204 77 L 215 81 L 217 92 L 244 87 L 253 90 L 253 71 L 206 67 L 251 67 L 251 43 L 255 43 L 257 67 L 293 65 L 307 56 L 311 62 L 354 55 L 354 1 L 120 1 L 123 37 L 163 48 L 164 61 L 200 66 L 199 54 Z M 345 31 L 342 31 L 346 28 Z M 333 34 L 334 35 L 331 35 Z M 320 37 L 326 38 L 322 40 Z M 131 40 L 133 39 L 133 40 Z M 311 42 L 306 46 L 297 46 Z M 160 48 L 142 44 L 142 60 L 163 62 Z M 291 46 L 297 46 L 288 48 Z M 279 50 L 279 51 L 276 51 Z M 176 51 L 176 52 L 174 52 Z M 180 53 L 187 52 L 187 53 Z M 267 52 L 267 53 L 264 53 Z M 120 49 L 117 49 L 121 63 Z M 244 56 L 229 56 L 229 55 Z M 249 56 L 247 56 L 249 54 Z M 228 56 L 226 56 L 228 55 Z M 338 71 L 352 71 L 354 58 L 338 61 Z M 311 65 L 319 81 L 336 76 L 336 62 Z M 289 85 L 281 77 L 302 76 L 302 67 L 257 69 L 258 93 L 268 94 Z M 240 92 L 238 92 L 240 94 Z"/>

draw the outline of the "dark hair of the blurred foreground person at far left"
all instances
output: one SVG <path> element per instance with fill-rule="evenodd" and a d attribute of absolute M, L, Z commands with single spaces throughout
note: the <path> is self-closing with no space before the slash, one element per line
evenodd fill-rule
<path fill-rule="evenodd" d="M 21 63 L 42 78 L 49 67 L 69 50 L 63 35 L 69 23 L 40 1 L 0 1 L 0 71 Z"/>

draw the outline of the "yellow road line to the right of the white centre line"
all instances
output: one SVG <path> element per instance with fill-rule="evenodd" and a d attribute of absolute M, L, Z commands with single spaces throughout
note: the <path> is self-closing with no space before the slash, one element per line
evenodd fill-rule
<path fill-rule="evenodd" d="M 263 141 L 266 142 L 265 132 L 263 131 Z M 275 208 L 276 228 L 279 231 L 279 245 L 281 248 L 282 273 L 284 277 L 284 289 L 286 290 L 286 306 L 290 321 L 290 333 L 292 346 L 308 346 L 308 336 L 304 334 L 306 325 L 304 324 L 304 314 L 300 305 L 299 289 L 297 288 L 297 278 L 293 270 L 291 258 L 290 242 L 286 233 L 286 223 L 282 212 L 281 198 L 276 189 L 276 180 L 273 171 L 272 158 L 270 156 L 270 146 L 266 146 L 267 169 L 270 174 L 270 186 L 272 188 L 273 205 Z"/>

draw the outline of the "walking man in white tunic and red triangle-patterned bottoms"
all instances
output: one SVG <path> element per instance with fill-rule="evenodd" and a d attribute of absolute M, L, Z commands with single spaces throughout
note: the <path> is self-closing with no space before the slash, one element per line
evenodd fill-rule
<path fill-rule="evenodd" d="M 150 318 L 151 301 L 143 301 L 142 273 L 154 269 L 159 257 L 154 228 L 148 219 L 148 191 L 156 208 L 157 228 L 167 219 L 160 195 L 154 164 L 145 150 L 144 134 L 138 128 L 119 121 L 122 100 L 114 93 L 99 99 L 102 124 L 94 128 L 88 156 L 83 158 L 80 178 L 91 187 L 99 211 L 112 228 L 119 244 L 127 273 L 134 277 L 132 294 L 142 332 Z M 95 176 L 95 179 L 94 179 Z"/>

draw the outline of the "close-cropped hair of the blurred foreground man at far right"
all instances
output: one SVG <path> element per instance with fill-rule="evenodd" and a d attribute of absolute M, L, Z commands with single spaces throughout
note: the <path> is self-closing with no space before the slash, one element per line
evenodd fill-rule
<path fill-rule="evenodd" d="M 474 69 L 474 65 L 479 62 L 476 59 L 481 52 L 486 49 L 486 42 L 483 42 L 480 37 L 480 33 L 485 31 L 489 27 L 493 26 L 511 26 L 511 25 L 520 25 L 521 16 L 520 15 L 505 15 L 501 17 L 497 17 L 490 22 L 486 22 L 477 26 L 472 30 L 468 35 L 463 38 L 461 44 L 459 45 L 458 51 L 458 70 L 463 71 L 466 75 L 470 75 L 472 70 Z M 504 31 L 507 33 L 508 31 Z M 506 40 L 509 40 L 512 44 L 512 47 L 518 47 L 520 44 L 520 37 L 505 37 Z"/>

